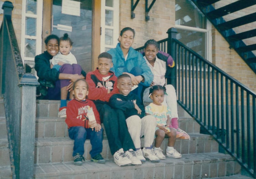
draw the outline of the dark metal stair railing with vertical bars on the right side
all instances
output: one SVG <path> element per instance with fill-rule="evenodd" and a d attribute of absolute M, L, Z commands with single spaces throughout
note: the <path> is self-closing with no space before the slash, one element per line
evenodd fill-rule
<path fill-rule="evenodd" d="M 255 92 L 179 42 L 175 28 L 167 33 L 158 43 L 175 61 L 167 78 L 176 88 L 177 103 L 255 178 Z"/>

